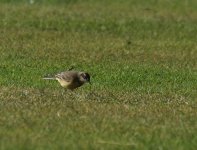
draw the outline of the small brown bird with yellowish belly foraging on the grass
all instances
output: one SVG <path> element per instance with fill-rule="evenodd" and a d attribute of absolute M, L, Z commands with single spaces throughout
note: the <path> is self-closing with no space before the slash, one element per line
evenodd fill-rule
<path fill-rule="evenodd" d="M 69 90 L 75 90 L 85 83 L 90 83 L 90 75 L 87 72 L 68 70 L 56 74 L 54 77 L 44 77 L 45 80 L 57 80 L 60 85 Z"/>

